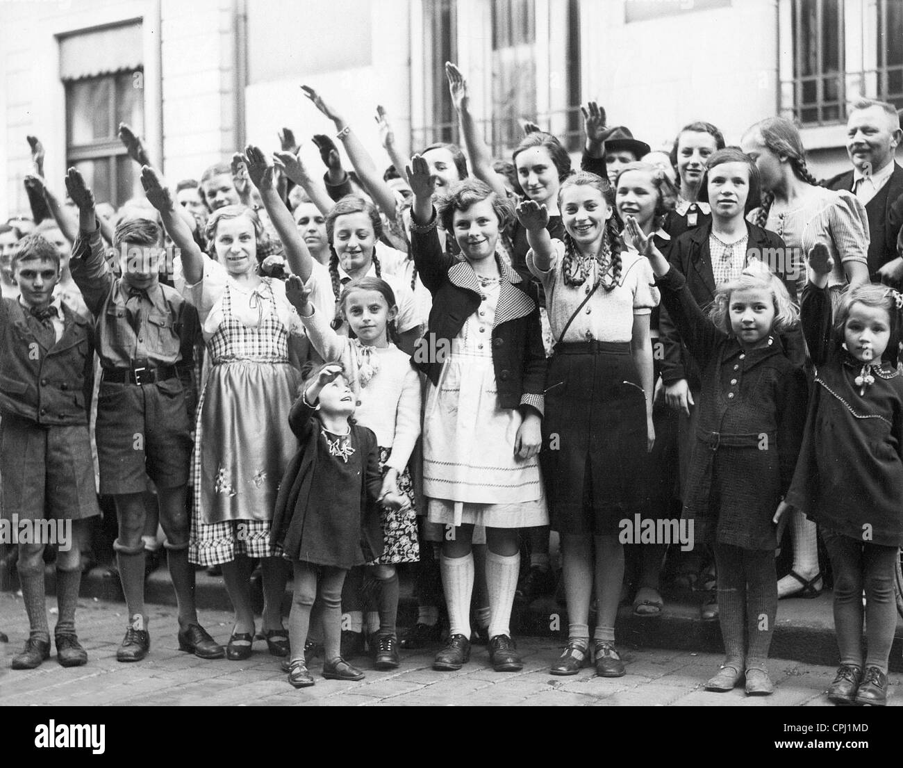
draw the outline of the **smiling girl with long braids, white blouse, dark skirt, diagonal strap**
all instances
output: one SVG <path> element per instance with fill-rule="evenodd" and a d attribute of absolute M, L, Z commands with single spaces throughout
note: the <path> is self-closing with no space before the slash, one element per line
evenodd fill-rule
<path fill-rule="evenodd" d="M 556 339 L 542 456 L 553 528 L 562 539 L 570 625 L 567 647 L 551 671 L 575 675 L 590 658 L 595 576 L 596 673 L 620 677 L 625 669 L 614 634 L 624 578 L 619 521 L 642 510 L 643 470 L 655 441 L 649 315 L 658 296 L 647 261 L 623 248 L 607 180 L 576 173 L 561 185 L 557 203 L 561 240 L 546 229 L 545 206 L 524 201 L 517 207 L 531 247 L 526 263 L 545 288 Z"/>

